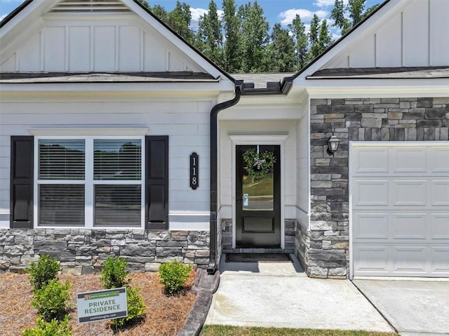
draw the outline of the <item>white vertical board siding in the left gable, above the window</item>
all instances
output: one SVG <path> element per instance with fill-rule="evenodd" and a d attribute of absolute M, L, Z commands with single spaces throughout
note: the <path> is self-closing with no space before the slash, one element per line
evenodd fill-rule
<path fill-rule="evenodd" d="M 103 22 L 46 20 L 0 55 L 1 72 L 205 72 L 136 15 Z"/>

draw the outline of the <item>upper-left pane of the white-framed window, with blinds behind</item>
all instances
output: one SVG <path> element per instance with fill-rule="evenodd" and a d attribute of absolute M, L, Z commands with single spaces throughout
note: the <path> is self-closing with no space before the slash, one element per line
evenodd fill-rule
<path fill-rule="evenodd" d="M 83 180 L 84 140 L 39 140 L 40 180 Z"/>

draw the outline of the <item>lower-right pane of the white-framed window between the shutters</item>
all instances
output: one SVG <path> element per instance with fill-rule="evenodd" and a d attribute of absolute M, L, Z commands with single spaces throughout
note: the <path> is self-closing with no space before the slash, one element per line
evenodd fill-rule
<path fill-rule="evenodd" d="M 140 226 L 142 187 L 95 185 L 95 225 Z"/>

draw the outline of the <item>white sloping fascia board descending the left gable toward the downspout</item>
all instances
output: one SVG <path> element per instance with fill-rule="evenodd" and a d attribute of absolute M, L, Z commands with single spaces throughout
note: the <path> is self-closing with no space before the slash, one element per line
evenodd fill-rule
<path fill-rule="evenodd" d="M 147 24 L 151 25 L 158 31 L 162 36 L 166 37 L 169 41 L 171 41 L 177 48 L 183 51 L 189 58 L 197 62 L 200 67 L 206 70 L 209 74 L 218 78 L 222 76 L 222 78 L 227 78 L 230 81 L 234 82 L 234 79 L 229 76 L 226 72 L 222 71 L 217 65 L 214 65 L 213 62 L 208 60 L 204 55 L 201 55 L 196 49 L 191 46 L 187 41 L 182 39 L 181 36 L 176 34 L 173 29 L 164 24 L 159 18 L 156 18 L 151 12 L 147 11 L 146 8 L 143 8 L 141 4 L 135 2 L 135 0 L 122 0 L 123 3 L 126 4 L 132 11 L 137 13 L 141 20 L 147 22 Z"/>

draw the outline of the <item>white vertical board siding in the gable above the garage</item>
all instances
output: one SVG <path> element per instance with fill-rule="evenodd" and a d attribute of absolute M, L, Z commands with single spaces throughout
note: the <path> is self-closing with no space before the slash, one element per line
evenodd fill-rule
<path fill-rule="evenodd" d="M 375 27 L 358 36 L 323 69 L 448 65 L 449 1 L 404 0 L 400 6 L 400 11 L 377 20 Z"/>

